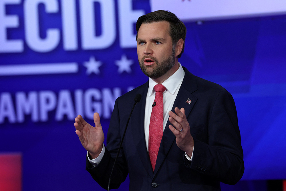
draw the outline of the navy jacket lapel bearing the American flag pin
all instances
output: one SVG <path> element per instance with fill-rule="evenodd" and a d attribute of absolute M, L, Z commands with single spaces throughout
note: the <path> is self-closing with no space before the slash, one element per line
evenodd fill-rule
<path fill-rule="evenodd" d="M 184 70 L 185 70 L 184 80 L 182 82 L 182 85 L 175 99 L 174 105 L 172 107 L 172 111 L 175 113 L 174 111 L 175 107 L 178 107 L 179 109 L 183 107 L 185 109 L 186 117 L 188 118 L 188 115 L 190 114 L 192 107 L 197 101 L 197 98 L 194 97 L 191 93 L 196 91 L 198 88 L 197 88 L 195 76 L 191 74 L 186 68 L 184 68 Z M 186 103 L 188 99 L 190 99 L 191 101 L 190 104 Z M 176 136 L 169 129 L 169 125 L 171 125 L 170 121 L 167 122 L 164 133 L 163 133 L 153 177 L 158 172 L 158 169 L 162 165 L 162 162 L 167 156 L 172 144 L 176 144 L 176 141 L 175 141 Z"/>

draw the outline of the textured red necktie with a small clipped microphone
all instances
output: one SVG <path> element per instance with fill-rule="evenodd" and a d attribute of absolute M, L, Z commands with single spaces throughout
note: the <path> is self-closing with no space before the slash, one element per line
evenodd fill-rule
<path fill-rule="evenodd" d="M 164 123 L 164 102 L 163 102 L 163 92 L 166 88 L 162 84 L 157 84 L 154 86 L 155 100 L 152 105 L 152 113 L 150 117 L 149 125 L 149 142 L 148 151 L 151 160 L 153 171 L 155 169 L 157 155 L 163 136 L 163 123 Z M 156 103 L 155 103 L 156 102 Z"/>

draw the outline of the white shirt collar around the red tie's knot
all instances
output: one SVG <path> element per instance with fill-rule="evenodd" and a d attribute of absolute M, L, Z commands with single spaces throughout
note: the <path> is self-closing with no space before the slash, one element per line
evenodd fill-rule
<path fill-rule="evenodd" d="M 179 62 L 179 69 L 168 79 L 166 79 L 162 85 L 165 86 L 165 88 L 174 95 L 176 89 L 179 87 L 180 83 L 183 81 L 185 75 L 185 71 L 182 68 L 180 62 Z M 150 97 L 153 93 L 153 88 L 157 83 L 152 80 L 152 78 L 149 77 L 149 88 L 148 88 L 148 96 Z"/>

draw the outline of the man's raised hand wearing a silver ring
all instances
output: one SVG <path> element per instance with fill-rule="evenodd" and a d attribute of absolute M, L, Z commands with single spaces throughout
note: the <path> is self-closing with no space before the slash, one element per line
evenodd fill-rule
<path fill-rule="evenodd" d="M 181 108 L 181 110 L 176 107 L 175 113 L 172 111 L 169 112 L 169 121 L 172 125 L 169 125 L 169 129 L 174 133 L 176 136 L 176 143 L 178 147 L 185 151 L 189 157 L 192 156 L 192 151 L 194 148 L 194 139 L 190 134 L 190 125 L 187 121 L 185 115 L 185 109 Z"/>

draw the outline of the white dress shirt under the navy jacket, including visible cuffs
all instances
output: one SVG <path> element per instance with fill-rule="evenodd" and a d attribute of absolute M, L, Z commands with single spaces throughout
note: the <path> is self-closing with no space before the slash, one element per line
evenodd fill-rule
<path fill-rule="evenodd" d="M 181 64 L 179 63 L 179 69 L 168 79 L 166 79 L 162 85 L 165 86 L 166 90 L 163 92 L 163 100 L 164 100 L 164 125 L 163 125 L 163 131 L 165 130 L 165 126 L 168 122 L 169 119 L 169 111 L 172 110 L 172 107 L 174 105 L 175 99 L 177 97 L 178 91 L 180 89 L 180 86 L 182 84 L 182 81 L 184 79 L 185 71 L 183 70 Z M 146 142 L 146 147 L 148 151 L 148 142 L 149 142 L 149 124 L 150 124 L 150 117 L 151 117 L 151 112 L 152 112 L 152 104 L 155 100 L 155 90 L 154 86 L 157 83 L 152 80 L 152 78 L 149 78 L 149 88 L 148 88 L 148 93 L 146 97 L 146 106 L 145 106 L 145 118 L 144 118 L 144 133 L 145 133 L 145 142 Z M 88 160 L 93 166 L 97 166 L 105 152 L 105 148 L 103 145 L 103 149 L 100 153 L 100 155 L 93 159 L 90 160 L 88 156 Z M 185 156 L 188 160 L 192 160 L 192 156 L 189 157 L 186 153 Z"/>

